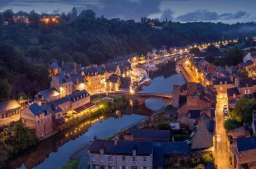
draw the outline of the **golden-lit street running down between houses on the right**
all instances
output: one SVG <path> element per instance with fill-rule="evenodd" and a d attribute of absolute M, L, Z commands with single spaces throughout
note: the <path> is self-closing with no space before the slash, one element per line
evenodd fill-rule
<path fill-rule="evenodd" d="M 214 142 L 214 158 L 215 164 L 218 166 L 218 169 L 232 169 L 228 161 L 228 143 L 226 131 L 224 129 L 224 116 L 223 116 L 223 106 L 227 104 L 227 93 L 223 97 L 223 93 L 217 96 L 217 105 L 216 105 L 216 133 L 215 133 L 215 142 Z"/>

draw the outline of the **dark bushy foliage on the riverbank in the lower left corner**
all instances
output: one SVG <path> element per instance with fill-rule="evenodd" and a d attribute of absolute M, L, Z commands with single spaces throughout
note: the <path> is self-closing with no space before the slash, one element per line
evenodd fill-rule
<path fill-rule="evenodd" d="M 37 142 L 35 133 L 25 128 L 21 122 L 4 127 L 0 133 L 0 163 L 4 163 L 12 154 L 36 145 Z"/>

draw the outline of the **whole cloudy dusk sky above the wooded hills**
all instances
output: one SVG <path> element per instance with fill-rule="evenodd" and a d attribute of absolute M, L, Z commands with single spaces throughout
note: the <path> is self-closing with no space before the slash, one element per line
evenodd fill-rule
<path fill-rule="evenodd" d="M 160 20 L 193 22 L 255 22 L 255 0 L 0 0 L 0 11 L 31 11 L 67 13 L 92 9 L 97 16 L 140 20 L 141 17 Z"/>

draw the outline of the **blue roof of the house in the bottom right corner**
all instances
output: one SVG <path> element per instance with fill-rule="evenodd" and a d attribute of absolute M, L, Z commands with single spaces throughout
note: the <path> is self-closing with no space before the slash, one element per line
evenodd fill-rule
<path fill-rule="evenodd" d="M 256 137 L 246 137 L 246 138 L 238 138 L 237 142 L 237 150 L 238 151 L 248 151 L 252 149 L 256 149 Z"/>

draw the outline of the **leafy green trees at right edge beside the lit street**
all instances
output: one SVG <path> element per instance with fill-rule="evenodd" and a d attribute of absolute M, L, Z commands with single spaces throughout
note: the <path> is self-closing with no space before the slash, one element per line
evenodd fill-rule
<path fill-rule="evenodd" d="M 255 99 L 242 98 L 237 102 L 232 112 L 232 117 L 236 118 L 239 122 L 250 124 L 252 122 L 252 112 L 255 108 Z"/>

